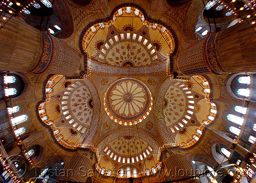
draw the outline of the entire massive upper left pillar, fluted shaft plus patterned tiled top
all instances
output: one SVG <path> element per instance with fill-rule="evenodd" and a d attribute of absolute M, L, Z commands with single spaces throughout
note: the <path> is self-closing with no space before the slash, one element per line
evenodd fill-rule
<path fill-rule="evenodd" d="M 83 56 L 61 39 L 12 17 L 0 30 L 0 70 L 60 74 L 78 73 Z"/>

